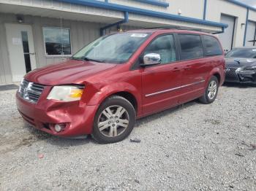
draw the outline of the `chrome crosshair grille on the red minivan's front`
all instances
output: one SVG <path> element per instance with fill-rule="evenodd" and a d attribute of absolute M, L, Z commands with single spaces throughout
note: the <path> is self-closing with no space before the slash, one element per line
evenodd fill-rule
<path fill-rule="evenodd" d="M 20 82 L 18 93 L 26 101 L 36 104 L 42 94 L 42 90 L 44 90 L 44 87 L 44 85 L 39 85 L 23 79 L 23 81 Z"/>

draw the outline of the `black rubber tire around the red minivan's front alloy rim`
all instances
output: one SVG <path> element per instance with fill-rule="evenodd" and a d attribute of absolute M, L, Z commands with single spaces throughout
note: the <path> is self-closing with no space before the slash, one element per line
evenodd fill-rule
<path fill-rule="evenodd" d="M 102 133 L 102 131 L 105 131 L 105 130 L 110 131 L 111 126 L 106 128 L 105 130 L 101 131 L 101 130 L 99 130 L 98 123 L 99 123 L 99 120 L 101 120 L 102 112 L 105 111 L 105 109 L 111 108 L 112 106 L 113 107 L 121 106 L 122 108 L 124 108 L 126 110 L 125 114 L 129 118 L 129 120 L 128 120 L 129 123 L 127 125 L 127 128 L 124 128 L 124 130 L 122 131 L 122 133 L 120 135 L 108 137 L 107 135 Z M 105 116 L 105 115 L 103 114 L 103 116 Z M 106 118 L 105 122 L 107 120 L 110 121 L 110 119 L 108 119 L 107 117 L 105 117 L 105 118 Z M 110 144 L 110 143 L 122 141 L 125 138 L 127 138 L 127 136 L 129 136 L 129 134 L 132 132 L 132 129 L 134 128 L 134 125 L 135 125 L 135 121 L 136 121 L 136 112 L 135 112 L 135 109 L 132 106 L 132 104 L 127 99 L 125 99 L 121 96 L 113 95 L 113 96 L 107 98 L 99 106 L 99 109 L 97 110 L 97 113 L 94 117 L 94 128 L 93 128 L 93 133 L 91 134 L 91 136 L 93 137 L 93 139 L 95 141 L 99 142 L 100 144 Z M 117 129 L 122 128 L 122 126 L 116 125 L 116 128 Z"/>

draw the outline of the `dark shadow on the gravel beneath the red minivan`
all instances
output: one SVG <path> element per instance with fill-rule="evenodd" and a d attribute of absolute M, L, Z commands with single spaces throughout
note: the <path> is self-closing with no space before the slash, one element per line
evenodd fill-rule
<path fill-rule="evenodd" d="M 171 109 L 166 109 L 162 112 L 158 112 L 157 114 L 151 114 L 147 117 L 140 118 L 135 123 L 135 128 L 139 128 L 141 125 L 146 125 L 148 122 L 154 121 L 161 117 L 165 117 L 168 114 L 178 112 L 190 106 L 194 106 L 195 104 L 200 104 L 200 103 L 198 103 L 197 101 L 190 101 L 187 104 L 182 104 L 180 106 L 176 106 Z M 57 147 L 63 147 L 64 149 L 67 149 L 68 147 L 76 147 L 79 145 L 85 145 L 90 143 L 98 144 L 97 141 L 94 141 L 94 139 L 92 139 L 90 135 L 87 136 L 87 138 L 85 139 L 71 139 L 71 138 L 62 138 L 62 137 L 52 136 L 48 133 L 45 133 L 41 130 L 37 130 L 36 128 L 31 127 L 26 122 L 24 122 L 24 128 L 26 128 L 31 134 L 31 137 L 33 137 L 31 143 L 37 142 L 37 141 L 45 141 L 48 144 L 51 144 Z"/>

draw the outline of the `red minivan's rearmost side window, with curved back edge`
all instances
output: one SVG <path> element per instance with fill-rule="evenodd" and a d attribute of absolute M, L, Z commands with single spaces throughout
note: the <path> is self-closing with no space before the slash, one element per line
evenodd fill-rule
<path fill-rule="evenodd" d="M 222 55 L 222 47 L 213 36 L 203 35 L 205 55 Z"/>

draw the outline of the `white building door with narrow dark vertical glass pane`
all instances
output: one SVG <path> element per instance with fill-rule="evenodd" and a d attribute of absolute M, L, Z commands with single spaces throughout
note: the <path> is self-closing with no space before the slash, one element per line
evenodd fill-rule
<path fill-rule="evenodd" d="M 23 24 L 5 24 L 12 82 L 20 82 L 29 71 L 36 69 L 32 28 Z"/>

